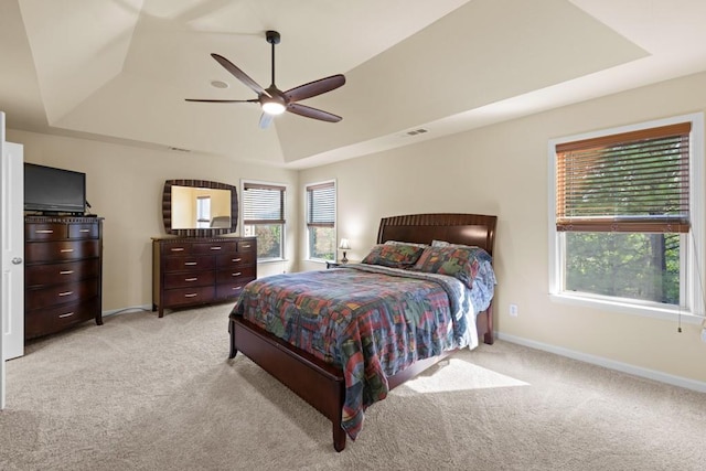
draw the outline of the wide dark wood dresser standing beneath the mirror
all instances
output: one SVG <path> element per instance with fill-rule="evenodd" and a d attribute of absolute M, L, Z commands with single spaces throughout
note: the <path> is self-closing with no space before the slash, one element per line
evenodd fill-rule
<path fill-rule="evenodd" d="M 235 300 L 257 278 L 255 237 L 152 238 L 152 311 Z"/>

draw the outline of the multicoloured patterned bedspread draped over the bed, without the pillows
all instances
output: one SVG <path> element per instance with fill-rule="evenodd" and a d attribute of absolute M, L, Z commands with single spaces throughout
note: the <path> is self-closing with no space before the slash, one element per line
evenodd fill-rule
<path fill-rule="evenodd" d="M 490 297 L 491 278 L 482 288 Z M 417 360 L 478 345 L 474 314 L 490 299 L 473 291 L 445 275 L 349 265 L 252 281 L 233 314 L 342 367 L 342 426 L 355 439 L 365 408 L 387 396 L 387 376 Z M 473 302 L 485 306 L 474 309 Z"/>

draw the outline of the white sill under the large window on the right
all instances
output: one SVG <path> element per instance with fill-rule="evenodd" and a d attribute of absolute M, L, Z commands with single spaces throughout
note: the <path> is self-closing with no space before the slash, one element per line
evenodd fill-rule
<path fill-rule="evenodd" d="M 593 308 L 603 311 L 613 311 L 622 314 L 641 315 L 644 318 L 661 319 L 664 321 L 676 322 L 681 320 L 686 324 L 700 324 L 705 318 L 688 311 L 680 311 L 678 309 L 661 308 L 656 306 L 639 306 L 633 303 L 620 302 L 614 300 L 597 299 L 579 295 L 549 295 L 549 299 L 570 306 L 580 306 L 582 308 Z"/>

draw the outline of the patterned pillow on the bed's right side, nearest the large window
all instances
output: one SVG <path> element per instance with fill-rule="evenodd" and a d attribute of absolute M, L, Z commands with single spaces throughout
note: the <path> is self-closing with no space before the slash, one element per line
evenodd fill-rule
<path fill-rule="evenodd" d="M 461 245 L 428 247 L 424 250 L 413 270 L 448 275 L 457 278 L 471 289 L 473 287 L 473 278 L 480 267 L 480 260 L 485 257 L 490 259 L 490 255 L 479 247 Z"/>

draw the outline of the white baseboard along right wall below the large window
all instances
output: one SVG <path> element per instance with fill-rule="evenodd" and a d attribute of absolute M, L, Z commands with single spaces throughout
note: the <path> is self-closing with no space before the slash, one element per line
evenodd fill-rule
<path fill-rule="evenodd" d="M 682 376 L 670 375 L 666 373 L 657 372 L 655 370 L 649 370 L 649 368 L 631 365 L 628 363 L 616 362 L 614 360 L 605 358 L 602 356 L 596 356 L 596 355 L 590 355 L 588 353 L 576 352 L 574 350 L 564 349 L 561 346 L 555 346 L 548 343 L 536 342 L 534 340 L 527 340 L 521 336 L 509 335 L 502 332 L 498 332 L 498 339 L 504 340 L 511 343 L 516 343 L 518 345 L 528 346 L 531 349 L 543 350 L 545 352 L 555 353 L 557 355 L 578 360 L 580 362 L 591 363 L 593 365 L 603 366 L 610 370 L 616 370 L 622 373 L 645 377 L 648 379 L 659 381 L 662 383 L 671 384 L 673 386 L 680 386 L 687 389 L 697 390 L 699 393 L 706 393 L 706 383 L 700 381 L 689 379 Z"/>

